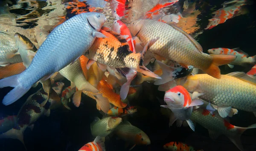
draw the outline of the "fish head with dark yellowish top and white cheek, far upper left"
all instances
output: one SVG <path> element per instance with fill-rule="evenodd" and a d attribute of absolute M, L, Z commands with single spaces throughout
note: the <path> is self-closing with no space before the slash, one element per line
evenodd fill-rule
<path fill-rule="evenodd" d="M 21 49 L 28 49 L 28 50 L 36 49 L 34 44 L 32 44 L 32 42 L 28 38 L 26 38 L 26 36 L 21 35 L 17 32 L 14 34 L 14 41 L 15 41 L 15 44 L 16 44 L 17 48 L 19 48 L 19 49 L 20 48 Z"/>

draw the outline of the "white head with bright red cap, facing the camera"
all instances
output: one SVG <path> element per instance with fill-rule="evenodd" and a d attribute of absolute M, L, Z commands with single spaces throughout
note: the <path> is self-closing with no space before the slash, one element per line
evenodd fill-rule
<path fill-rule="evenodd" d="M 183 86 L 177 85 L 166 91 L 164 101 L 168 106 L 171 106 L 174 109 L 179 109 L 190 104 L 191 98 L 189 92 Z"/>

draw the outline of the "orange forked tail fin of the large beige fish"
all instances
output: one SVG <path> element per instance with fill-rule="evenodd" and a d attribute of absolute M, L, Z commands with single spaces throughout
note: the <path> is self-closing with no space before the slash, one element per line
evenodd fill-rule
<path fill-rule="evenodd" d="M 204 70 L 208 75 L 214 78 L 221 78 L 221 70 L 218 66 L 229 64 L 230 62 L 236 59 L 235 55 L 211 55 L 212 56 L 212 64 L 209 66 L 207 70 Z"/>

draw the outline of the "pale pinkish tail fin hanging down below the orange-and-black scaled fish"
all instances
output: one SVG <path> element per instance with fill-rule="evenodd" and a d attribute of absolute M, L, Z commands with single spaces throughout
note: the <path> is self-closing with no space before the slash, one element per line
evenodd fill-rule
<path fill-rule="evenodd" d="M 120 98 L 124 100 L 127 97 L 131 81 L 134 79 L 136 76 L 137 72 L 135 70 L 130 70 L 129 73 L 126 75 L 127 82 L 122 85 L 121 90 L 120 90 Z"/>

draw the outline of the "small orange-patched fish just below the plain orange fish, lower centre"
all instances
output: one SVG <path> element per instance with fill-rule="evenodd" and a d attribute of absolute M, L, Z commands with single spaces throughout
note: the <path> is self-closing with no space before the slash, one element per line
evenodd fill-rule
<path fill-rule="evenodd" d="M 128 108 L 113 107 L 110 110 L 108 110 L 108 116 L 122 117 L 128 114 L 133 114 L 135 112 L 137 112 L 137 108 L 135 108 L 134 106 Z"/>

